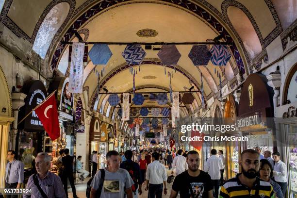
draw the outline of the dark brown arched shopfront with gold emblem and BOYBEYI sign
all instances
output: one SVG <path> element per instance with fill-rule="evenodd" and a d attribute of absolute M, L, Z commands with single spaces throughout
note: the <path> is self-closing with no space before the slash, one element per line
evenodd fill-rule
<path fill-rule="evenodd" d="M 241 89 L 236 128 L 240 135 L 247 136 L 248 141 L 242 142 L 241 150 L 260 147 L 274 150 L 275 124 L 273 122 L 273 89 L 267 85 L 262 74 L 251 74 Z"/>

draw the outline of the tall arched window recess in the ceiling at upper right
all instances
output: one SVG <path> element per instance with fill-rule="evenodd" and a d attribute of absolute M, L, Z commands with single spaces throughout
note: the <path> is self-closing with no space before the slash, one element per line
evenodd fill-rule
<path fill-rule="evenodd" d="M 262 51 L 262 46 L 249 18 L 241 9 L 234 6 L 229 6 L 227 8 L 227 14 L 232 26 L 239 34 L 245 48 L 247 49 L 249 58 L 253 59 Z"/>

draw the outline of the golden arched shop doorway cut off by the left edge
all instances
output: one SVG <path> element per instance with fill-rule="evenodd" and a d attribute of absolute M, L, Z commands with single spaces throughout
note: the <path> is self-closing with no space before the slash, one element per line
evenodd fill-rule
<path fill-rule="evenodd" d="M 0 67 L 0 189 L 4 188 L 6 154 L 8 150 L 8 133 L 10 124 L 14 121 L 12 117 L 12 104 L 10 91 L 6 82 L 5 75 Z"/>

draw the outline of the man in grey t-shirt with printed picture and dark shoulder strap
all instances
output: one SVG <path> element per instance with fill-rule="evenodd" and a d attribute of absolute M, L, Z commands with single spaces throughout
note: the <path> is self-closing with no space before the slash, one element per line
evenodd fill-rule
<path fill-rule="evenodd" d="M 107 168 L 97 171 L 91 181 L 90 198 L 133 198 L 132 178 L 128 171 L 119 168 L 118 152 L 110 150 L 106 154 Z M 88 197 L 88 196 L 87 196 Z"/>

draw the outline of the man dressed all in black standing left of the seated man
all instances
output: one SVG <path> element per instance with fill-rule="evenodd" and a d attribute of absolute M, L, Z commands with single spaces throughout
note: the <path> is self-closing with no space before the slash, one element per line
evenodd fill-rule
<path fill-rule="evenodd" d="M 68 198 L 68 191 L 67 191 L 67 179 L 69 179 L 71 189 L 72 189 L 72 194 L 73 198 L 78 198 L 76 195 L 76 189 L 74 185 L 74 178 L 73 178 L 73 162 L 74 162 L 74 157 L 69 155 L 69 149 L 65 148 L 64 149 L 64 154 L 65 156 L 62 157 L 62 163 L 64 165 L 64 170 L 63 170 L 63 184 L 64 184 L 64 190 L 66 193 L 66 197 Z"/>

